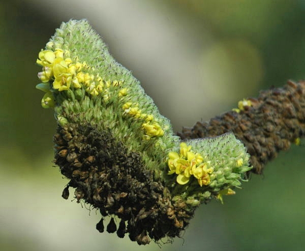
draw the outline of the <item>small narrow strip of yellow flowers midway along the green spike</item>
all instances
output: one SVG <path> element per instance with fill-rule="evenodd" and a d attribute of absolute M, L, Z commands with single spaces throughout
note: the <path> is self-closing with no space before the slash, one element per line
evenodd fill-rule
<path fill-rule="evenodd" d="M 141 129 L 144 131 L 143 139 L 149 140 L 152 137 L 161 137 L 164 135 L 164 130 L 154 119 L 154 116 L 142 113 L 142 110 L 139 109 L 138 103 L 126 102 L 123 104 L 122 108 L 125 114 L 144 121 L 141 126 Z"/>

